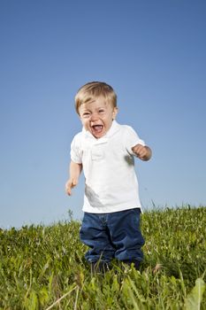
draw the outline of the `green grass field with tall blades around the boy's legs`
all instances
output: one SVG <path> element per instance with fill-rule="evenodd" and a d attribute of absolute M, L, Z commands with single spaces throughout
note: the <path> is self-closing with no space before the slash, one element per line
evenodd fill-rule
<path fill-rule="evenodd" d="M 90 272 L 80 222 L 0 229 L 0 309 L 204 310 L 205 228 L 205 207 L 143 213 L 140 272 L 114 262 L 105 275 Z"/>

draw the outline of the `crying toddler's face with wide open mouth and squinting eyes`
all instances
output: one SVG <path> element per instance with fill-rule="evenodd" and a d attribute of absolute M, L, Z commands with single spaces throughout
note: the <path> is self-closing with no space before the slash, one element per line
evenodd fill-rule
<path fill-rule="evenodd" d="M 106 135 L 117 112 L 118 108 L 107 103 L 103 97 L 98 97 L 92 102 L 80 105 L 79 109 L 83 127 L 97 139 Z"/>

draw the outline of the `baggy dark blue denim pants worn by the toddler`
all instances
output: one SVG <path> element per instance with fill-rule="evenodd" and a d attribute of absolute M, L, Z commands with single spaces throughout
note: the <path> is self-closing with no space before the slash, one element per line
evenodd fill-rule
<path fill-rule="evenodd" d="M 80 240 L 90 248 L 85 257 L 90 263 L 112 259 L 143 259 L 144 244 L 139 208 L 115 213 L 84 213 Z"/>

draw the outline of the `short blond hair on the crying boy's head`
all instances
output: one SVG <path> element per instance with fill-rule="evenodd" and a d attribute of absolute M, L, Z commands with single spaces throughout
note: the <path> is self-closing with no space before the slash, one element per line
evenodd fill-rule
<path fill-rule="evenodd" d="M 95 101 L 97 97 L 104 97 L 109 104 L 117 107 L 117 95 L 110 85 L 103 81 L 90 81 L 75 96 L 76 112 L 79 114 L 80 105 Z"/>

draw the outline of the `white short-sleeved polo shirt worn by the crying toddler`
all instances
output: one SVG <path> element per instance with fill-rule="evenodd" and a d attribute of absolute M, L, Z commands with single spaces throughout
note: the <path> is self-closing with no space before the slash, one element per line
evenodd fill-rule
<path fill-rule="evenodd" d="M 74 136 L 71 159 L 82 164 L 85 175 L 83 211 L 112 213 L 141 208 L 131 148 L 145 145 L 134 129 L 113 120 L 110 130 L 96 139 L 84 128 Z"/>

